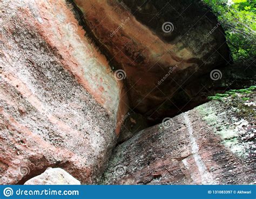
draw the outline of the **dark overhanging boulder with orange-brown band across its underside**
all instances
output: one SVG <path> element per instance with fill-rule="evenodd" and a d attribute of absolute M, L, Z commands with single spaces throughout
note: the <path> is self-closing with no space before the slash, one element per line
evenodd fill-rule
<path fill-rule="evenodd" d="M 199 76 L 231 61 L 224 31 L 199 0 L 73 2 L 112 66 L 125 71 L 131 108 L 149 119 L 163 117 L 163 104 L 177 114 L 196 96 Z"/>

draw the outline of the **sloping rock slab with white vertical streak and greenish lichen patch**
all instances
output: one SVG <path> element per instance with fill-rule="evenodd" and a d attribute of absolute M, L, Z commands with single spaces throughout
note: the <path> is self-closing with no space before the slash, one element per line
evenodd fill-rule
<path fill-rule="evenodd" d="M 119 145 L 102 183 L 256 183 L 256 91 L 230 95 L 216 96 L 219 101 L 140 131 Z"/>

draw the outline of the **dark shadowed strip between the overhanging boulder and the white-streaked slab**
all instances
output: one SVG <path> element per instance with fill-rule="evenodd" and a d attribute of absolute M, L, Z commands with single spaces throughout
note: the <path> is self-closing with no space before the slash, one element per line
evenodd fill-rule
<path fill-rule="evenodd" d="M 200 76 L 196 81 L 188 79 L 187 86 L 177 89 L 172 98 L 161 103 L 157 110 L 149 111 L 147 115 L 160 123 L 164 117 L 176 116 L 177 113 L 191 110 L 202 103 L 208 102 L 208 96 L 225 93 L 230 89 L 241 89 L 256 85 L 254 64 L 249 66 L 234 64 L 220 68 L 219 71 L 221 72 L 219 80 L 212 80 L 211 72 Z"/>

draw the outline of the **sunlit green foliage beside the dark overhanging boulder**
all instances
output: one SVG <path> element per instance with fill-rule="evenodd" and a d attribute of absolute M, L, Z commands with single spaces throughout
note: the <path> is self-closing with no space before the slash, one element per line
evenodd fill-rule
<path fill-rule="evenodd" d="M 252 62 L 256 55 L 256 1 L 202 0 L 210 5 L 223 26 L 234 61 Z"/>

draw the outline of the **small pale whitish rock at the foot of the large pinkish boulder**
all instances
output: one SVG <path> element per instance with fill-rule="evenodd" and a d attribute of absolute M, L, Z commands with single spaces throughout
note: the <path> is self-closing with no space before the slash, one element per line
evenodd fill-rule
<path fill-rule="evenodd" d="M 80 185 L 81 183 L 75 179 L 72 175 L 67 173 L 61 168 L 47 168 L 44 173 L 33 177 L 32 179 L 26 181 L 25 185 L 46 185 L 46 184 L 72 184 Z"/>

